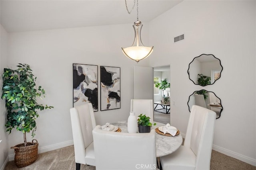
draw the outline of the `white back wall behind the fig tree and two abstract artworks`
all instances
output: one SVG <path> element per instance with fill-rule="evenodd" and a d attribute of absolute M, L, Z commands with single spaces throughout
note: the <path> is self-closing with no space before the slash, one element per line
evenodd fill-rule
<path fill-rule="evenodd" d="M 145 23 L 142 34 L 146 45 L 149 40 L 148 25 Z M 69 112 L 73 102 L 72 63 L 98 65 L 98 78 L 100 65 L 120 67 L 121 109 L 100 111 L 99 102 L 99 111 L 95 112 L 95 117 L 99 125 L 128 119 L 134 90 L 134 66 L 148 66 L 150 58 L 137 64 L 124 56 L 121 47 L 130 46 L 133 40 L 132 23 L 10 33 L 8 66 L 16 68 L 17 63 L 30 64 L 34 75 L 38 77 L 37 85 L 42 86 L 47 94 L 39 103 L 54 106 L 54 109 L 39 111 L 35 137 L 39 149 L 65 142 L 69 144 L 73 139 Z M 100 86 L 98 88 L 100 91 Z M 27 139 L 29 141 L 30 135 Z M 22 141 L 22 133 L 14 129 L 9 135 L 9 147 Z M 9 149 L 9 154 L 13 153 L 14 150 Z"/>

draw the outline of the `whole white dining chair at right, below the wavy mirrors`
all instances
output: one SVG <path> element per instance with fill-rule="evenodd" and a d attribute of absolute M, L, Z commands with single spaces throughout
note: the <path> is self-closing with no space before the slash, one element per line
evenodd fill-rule
<path fill-rule="evenodd" d="M 160 157 L 163 170 L 210 170 L 216 113 L 193 105 L 188 120 L 184 146 Z"/>

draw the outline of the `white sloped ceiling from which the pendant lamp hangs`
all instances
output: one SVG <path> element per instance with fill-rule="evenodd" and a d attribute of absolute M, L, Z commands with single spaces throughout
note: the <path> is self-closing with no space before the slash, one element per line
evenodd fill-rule
<path fill-rule="evenodd" d="M 148 22 L 182 0 L 139 0 L 139 20 Z M 133 0 L 127 0 L 128 10 Z M 130 23 L 125 0 L 0 0 L 1 25 L 11 32 Z"/>

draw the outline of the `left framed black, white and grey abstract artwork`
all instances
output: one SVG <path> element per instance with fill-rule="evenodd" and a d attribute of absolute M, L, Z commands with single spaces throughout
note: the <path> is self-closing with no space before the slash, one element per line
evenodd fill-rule
<path fill-rule="evenodd" d="M 73 63 L 73 107 L 84 103 L 98 111 L 98 66 Z"/>

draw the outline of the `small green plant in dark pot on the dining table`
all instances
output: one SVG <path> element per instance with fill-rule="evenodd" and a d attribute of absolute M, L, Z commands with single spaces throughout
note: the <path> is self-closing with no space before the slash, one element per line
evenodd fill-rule
<path fill-rule="evenodd" d="M 149 133 L 152 123 L 150 122 L 150 117 L 146 116 L 145 114 L 140 114 L 138 116 L 138 127 L 139 127 L 139 133 Z M 154 123 L 156 125 L 156 123 Z"/>

